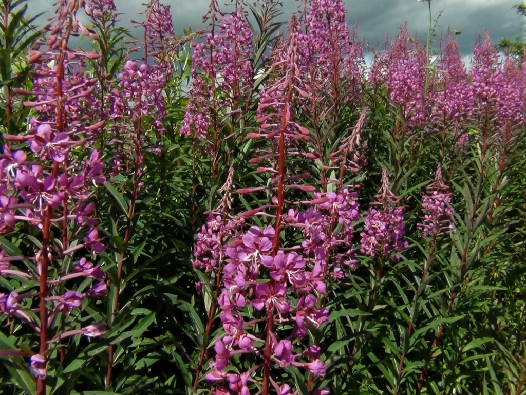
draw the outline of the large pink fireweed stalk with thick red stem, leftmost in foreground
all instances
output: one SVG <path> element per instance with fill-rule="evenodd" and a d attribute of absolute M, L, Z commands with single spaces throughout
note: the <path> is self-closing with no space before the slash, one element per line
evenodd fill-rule
<path fill-rule="evenodd" d="M 101 174 L 104 166 L 96 150 L 86 152 L 82 148 L 82 137 L 100 126 L 86 124 L 86 118 L 81 117 L 89 112 L 95 81 L 79 70 L 86 58 L 97 55 L 67 46 L 70 36 L 83 29 L 76 18 L 83 5 L 82 1 L 60 1 L 56 16 L 46 26 L 46 42 L 31 53 L 29 62 L 36 66 L 35 90 L 17 93 L 36 96 L 35 102 L 25 103 L 34 109 L 35 117 L 26 135 L 4 135 L 17 149 L 4 147 L 0 159 L 2 232 L 9 235 L 17 223 L 40 232 L 40 240 L 33 247 L 27 246 L 23 255 L 7 256 L 8 246 L 0 253 L 0 275 L 32 282 L 24 293 L 12 289 L 0 299 L 2 313 L 24 321 L 39 337 L 38 351 L 30 360 L 38 395 L 46 393 L 47 365 L 56 351 L 52 345 L 73 335 L 97 337 L 105 332 L 100 323 L 78 328 L 70 322 L 66 325 L 64 320 L 84 298 L 107 293 L 104 272 L 86 257 L 69 266 L 76 251 L 96 255 L 104 250 L 90 202 L 95 188 L 105 182 Z M 14 266 L 14 262 L 20 264 Z M 72 280 L 82 277 L 97 283 L 85 291 L 66 290 Z M 38 300 L 37 309 L 28 307 L 31 299 Z M 64 357 L 63 352 L 60 356 Z"/>

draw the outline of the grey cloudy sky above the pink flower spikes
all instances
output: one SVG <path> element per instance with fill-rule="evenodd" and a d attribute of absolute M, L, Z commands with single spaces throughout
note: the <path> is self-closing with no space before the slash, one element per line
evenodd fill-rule
<path fill-rule="evenodd" d="M 46 12 L 53 15 L 55 0 L 26 0 L 30 13 Z M 144 16 L 138 15 L 146 0 L 115 0 L 124 26 L 131 27 L 130 18 L 141 21 Z M 249 0 L 252 1 L 252 0 Z M 224 3 L 225 0 L 219 0 Z M 282 0 L 284 14 L 288 20 L 299 4 L 296 0 Z M 502 37 L 516 37 L 522 32 L 521 18 L 513 9 L 519 0 L 432 0 L 433 19 L 438 19 L 437 32 L 451 30 L 462 31 L 457 37 L 462 54 L 469 57 L 475 37 L 488 30 L 494 42 Z M 202 16 L 208 9 L 209 0 L 161 0 L 171 6 L 176 33 L 191 26 L 194 30 L 204 28 Z M 371 45 L 380 45 L 387 34 L 396 35 L 398 27 L 408 23 L 409 33 L 417 34 L 421 40 L 427 37 L 429 24 L 427 1 L 417 0 L 345 0 L 347 21 L 352 27 L 358 22 L 358 34 L 367 37 Z M 227 7 L 226 7 L 227 8 Z M 44 21 L 44 19 L 41 19 Z M 137 32 L 138 33 L 138 32 Z"/>

